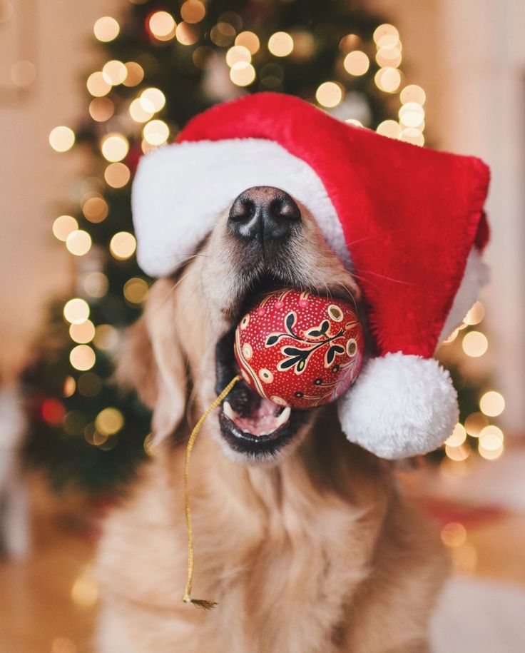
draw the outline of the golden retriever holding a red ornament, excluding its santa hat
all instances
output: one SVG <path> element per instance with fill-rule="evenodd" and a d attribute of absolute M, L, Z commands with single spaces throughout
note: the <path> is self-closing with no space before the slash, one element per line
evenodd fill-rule
<path fill-rule="evenodd" d="M 235 417 L 256 423 L 262 400 L 242 381 L 208 417 L 190 465 L 195 595 L 218 606 L 181 600 L 190 429 L 238 372 L 233 328 L 250 300 L 290 286 L 360 306 L 307 208 L 255 187 L 151 287 L 117 375 L 152 408 L 156 453 L 106 521 L 99 653 L 429 651 L 448 567 L 394 465 L 347 442 L 333 405 L 291 410 L 284 423 L 276 408 L 273 432 L 244 433 Z"/>

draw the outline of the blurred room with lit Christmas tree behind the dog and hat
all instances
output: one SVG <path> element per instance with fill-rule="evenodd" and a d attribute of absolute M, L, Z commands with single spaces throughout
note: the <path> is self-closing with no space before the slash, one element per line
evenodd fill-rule
<path fill-rule="evenodd" d="M 491 281 L 438 351 L 461 419 L 399 475 L 457 573 L 439 650 L 525 650 L 524 28 L 519 0 L 0 0 L 0 650 L 92 650 L 101 519 L 150 455 L 111 383 L 151 283 L 133 173 L 258 91 L 491 166 Z"/>

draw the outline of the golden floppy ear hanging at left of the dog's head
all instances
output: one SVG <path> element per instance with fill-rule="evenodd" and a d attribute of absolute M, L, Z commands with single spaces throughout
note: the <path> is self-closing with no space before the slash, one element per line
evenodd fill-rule
<path fill-rule="evenodd" d="M 136 390 L 153 410 L 153 445 L 175 431 L 186 403 L 185 362 L 167 286 L 161 281 L 152 286 L 144 315 L 128 328 L 116 361 L 118 383 Z"/>

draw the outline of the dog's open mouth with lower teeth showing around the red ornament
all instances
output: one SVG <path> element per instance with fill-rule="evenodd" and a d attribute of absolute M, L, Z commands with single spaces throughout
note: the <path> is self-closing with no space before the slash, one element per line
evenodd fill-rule
<path fill-rule="evenodd" d="M 282 284 L 265 280 L 257 293 Z M 250 293 L 240 305 L 240 315 L 250 306 L 257 293 Z M 215 350 L 217 393 L 239 374 L 233 353 L 235 326 L 221 338 Z M 235 384 L 223 400 L 220 432 L 233 451 L 250 457 L 273 457 L 297 435 L 307 420 L 305 411 L 278 406 L 255 392 L 245 380 Z"/>

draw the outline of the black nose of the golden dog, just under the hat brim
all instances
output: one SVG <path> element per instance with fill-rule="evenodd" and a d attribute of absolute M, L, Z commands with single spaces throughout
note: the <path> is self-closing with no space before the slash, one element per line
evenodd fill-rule
<path fill-rule="evenodd" d="M 228 229 L 237 238 L 263 243 L 287 238 L 300 221 L 299 207 L 288 193 L 272 186 L 254 186 L 233 202 Z"/>

